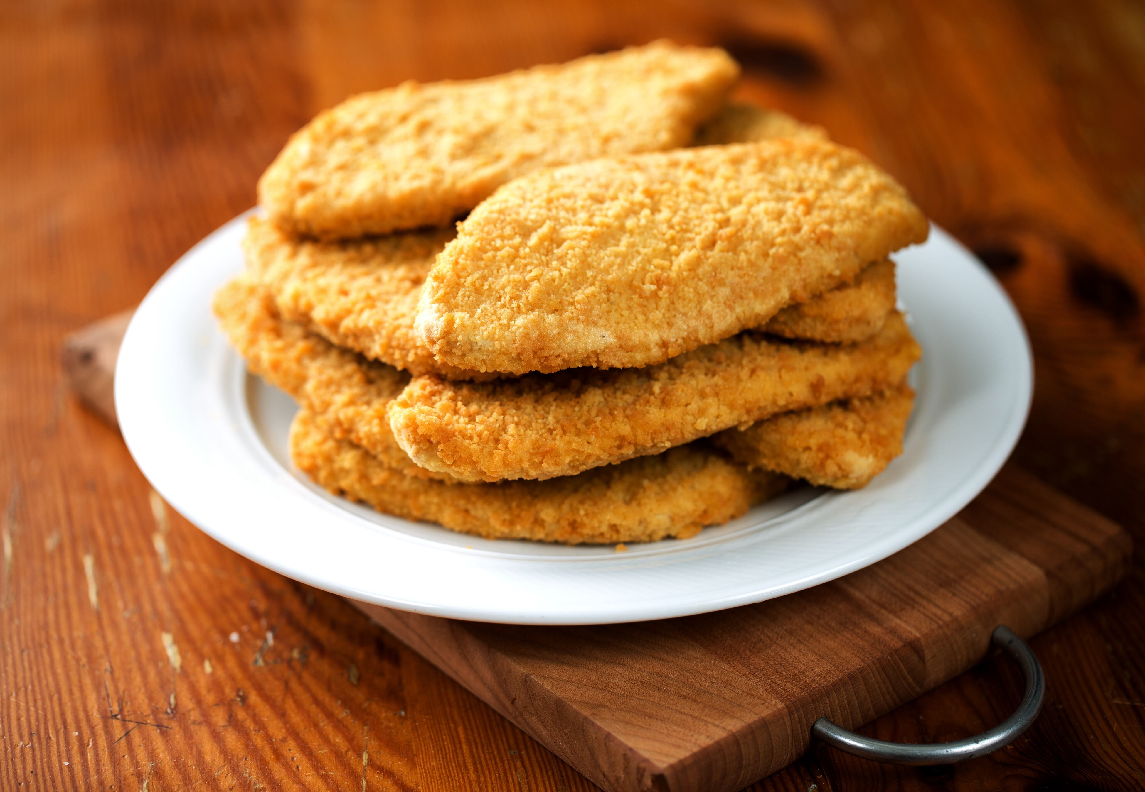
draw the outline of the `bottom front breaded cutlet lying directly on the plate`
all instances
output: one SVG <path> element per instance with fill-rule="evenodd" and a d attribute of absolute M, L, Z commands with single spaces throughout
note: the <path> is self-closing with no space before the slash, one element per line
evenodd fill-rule
<path fill-rule="evenodd" d="M 682 539 L 740 516 L 789 481 L 750 472 L 713 449 L 686 445 L 578 476 L 449 486 L 403 475 L 361 446 L 333 438 L 305 410 L 290 441 L 294 464 L 334 494 L 488 539 L 568 545 Z"/>

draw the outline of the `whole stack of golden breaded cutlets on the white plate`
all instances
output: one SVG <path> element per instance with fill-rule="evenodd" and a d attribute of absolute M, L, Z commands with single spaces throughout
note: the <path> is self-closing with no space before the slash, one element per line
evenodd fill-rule
<path fill-rule="evenodd" d="M 921 355 L 887 255 L 926 220 L 821 129 L 728 104 L 737 76 L 656 42 L 363 94 L 295 134 L 215 312 L 298 401 L 298 467 L 569 544 L 877 475 Z"/>

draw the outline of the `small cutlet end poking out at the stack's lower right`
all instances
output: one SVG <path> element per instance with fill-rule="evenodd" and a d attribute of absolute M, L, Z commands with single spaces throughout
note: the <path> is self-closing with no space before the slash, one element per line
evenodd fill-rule
<path fill-rule="evenodd" d="M 875 396 L 798 410 L 712 437 L 744 465 L 838 490 L 858 490 L 902 453 L 915 403 L 903 382 Z"/>

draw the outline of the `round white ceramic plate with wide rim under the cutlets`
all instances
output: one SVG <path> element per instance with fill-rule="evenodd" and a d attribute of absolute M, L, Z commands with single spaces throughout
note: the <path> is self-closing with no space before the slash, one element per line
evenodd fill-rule
<path fill-rule="evenodd" d="M 246 374 L 211 314 L 243 267 L 238 217 L 155 285 L 119 353 L 116 409 L 151 484 L 228 547 L 283 575 L 421 613 L 601 624 L 759 602 L 871 564 L 940 525 L 1010 454 L 1029 344 L 993 277 L 939 229 L 903 251 L 899 294 L 925 350 L 906 450 L 858 492 L 802 488 L 687 540 L 564 547 L 485 540 L 378 514 L 311 484 L 286 453 L 293 403 Z"/>

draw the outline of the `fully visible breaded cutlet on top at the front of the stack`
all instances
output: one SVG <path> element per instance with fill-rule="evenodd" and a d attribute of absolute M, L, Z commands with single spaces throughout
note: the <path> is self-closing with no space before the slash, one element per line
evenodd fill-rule
<path fill-rule="evenodd" d="M 429 271 L 416 327 L 458 369 L 656 364 L 759 327 L 926 232 L 893 179 L 827 141 L 599 159 L 475 208 Z"/>

